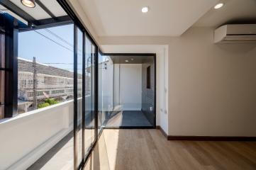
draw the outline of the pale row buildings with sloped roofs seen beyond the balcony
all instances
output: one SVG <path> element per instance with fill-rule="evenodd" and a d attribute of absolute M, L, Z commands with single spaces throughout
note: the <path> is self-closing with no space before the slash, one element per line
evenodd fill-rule
<path fill-rule="evenodd" d="M 18 58 L 18 113 L 33 110 L 34 98 L 37 100 L 37 105 L 47 98 L 54 98 L 58 102 L 72 99 L 73 74 L 65 69 L 38 62 L 34 64 L 33 61 Z M 81 97 L 82 74 L 78 74 L 77 79 L 78 97 Z M 90 81 L 90 77 L 87 76 L 86 79 Z M 87 89 L 86 95 L 89 95 L 90 84 L 88 83 L 85 88 Z M 35 96 L 34 91 L 36 91 Z"/>

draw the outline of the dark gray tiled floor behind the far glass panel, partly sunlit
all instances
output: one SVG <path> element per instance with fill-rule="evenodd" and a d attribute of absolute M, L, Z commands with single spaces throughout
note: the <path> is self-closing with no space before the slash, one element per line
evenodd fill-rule
<path fill-rule="evenodd" d="M 106 128 L 152 127 L 142 111 L 118 111 L 106 115 Z"/>

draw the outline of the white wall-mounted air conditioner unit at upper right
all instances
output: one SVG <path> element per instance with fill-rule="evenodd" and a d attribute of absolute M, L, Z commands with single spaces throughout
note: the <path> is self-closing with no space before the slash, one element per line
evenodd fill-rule
<path fill-rule="evenodd" d="M 256 43 L 256 24 L 234 24 L 217 28 L 214 43 Z"/>

